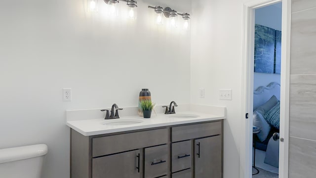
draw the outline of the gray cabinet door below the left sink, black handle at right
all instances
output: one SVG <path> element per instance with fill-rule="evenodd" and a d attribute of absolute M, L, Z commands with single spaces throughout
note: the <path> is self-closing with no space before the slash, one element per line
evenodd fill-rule
<path fill-rule="evenodd" d="M 140 178 L 139 150 L 92 159 L 92 178 Z"/>

